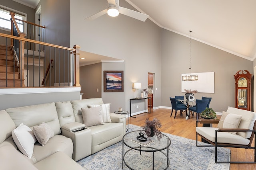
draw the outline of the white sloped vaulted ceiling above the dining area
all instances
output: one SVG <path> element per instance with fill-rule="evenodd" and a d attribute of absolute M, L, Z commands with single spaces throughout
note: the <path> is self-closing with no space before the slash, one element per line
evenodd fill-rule
<path fill-rule="evenodd" d="M 35 5 L 39 0 L 14 0 Z M 107 0 L 106 0 L 107 2 Z M 126 0 L 159 27 L 239 57 L 256 57 L 256 0 Z M 120 2 L 120 6 L 121 6 Z"/>

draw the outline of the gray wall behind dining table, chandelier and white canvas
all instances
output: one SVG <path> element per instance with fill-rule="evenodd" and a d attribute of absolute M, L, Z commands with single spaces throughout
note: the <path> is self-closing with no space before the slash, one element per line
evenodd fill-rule
<path fill-rule="evenodd" d="M 169 97 L 185 94 L 181 92 L 180 77 L 182 73 L 189 73 L 189 38 L 162 29 L 161 40 L 161 105 L 171 106 Z M 210 107 L 217 112 L 235 106 L 234 74 L 238 70 L 253 74 L 252 68 L 252 61 L 191 40 L 191 72 L 215 72 L 215 93 L 197 93 L 195 98 L 212 97 Z"/>

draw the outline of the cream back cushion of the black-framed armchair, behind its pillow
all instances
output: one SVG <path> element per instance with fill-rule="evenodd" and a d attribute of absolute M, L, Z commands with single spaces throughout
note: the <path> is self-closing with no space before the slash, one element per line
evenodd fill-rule
<path fill-rule="evenodd" d="M 255 112 L 243 110 L 243 109 L 237 109 L 234 107 L 229 107 L 227 112 L 243 116 L 238 126 L 239 129 L 250 129 L 250 130 L 253 129 L 254 122 L 256 119 Z M 252 132 L 237 132 L 236 134 L 244 138 L 250 138 L 250 136 L 252 135 Z"/>

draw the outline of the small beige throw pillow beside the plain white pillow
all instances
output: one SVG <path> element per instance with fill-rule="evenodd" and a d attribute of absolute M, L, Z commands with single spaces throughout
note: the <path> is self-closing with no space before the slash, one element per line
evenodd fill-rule
<path fill-rule="evenodd" d="M 44 123 L 44 122 L 34 127 L 33 131 L 37 141 L 42 146 L 44 146 L 51 137 L 54 137 L 54 131 L 47 123 Z"/>

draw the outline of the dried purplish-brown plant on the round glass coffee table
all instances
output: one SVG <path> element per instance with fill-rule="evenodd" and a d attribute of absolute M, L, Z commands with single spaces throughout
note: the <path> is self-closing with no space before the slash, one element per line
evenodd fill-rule
<path fill-rule="evenodd" d="M 142 126 L 142 129 L 145 131 L 148 137 L 153 137 L 154 135 L 156 135 L 157 140 L 160 141 L 160 139 L 162 139 L 162 133 L 159 128 L 161 127 L 162 124 L 160 123 L 160 121 L 154 117 L 153 120 L 149 120 L 148 118 L 146 118 L 145 125 Z"/>

